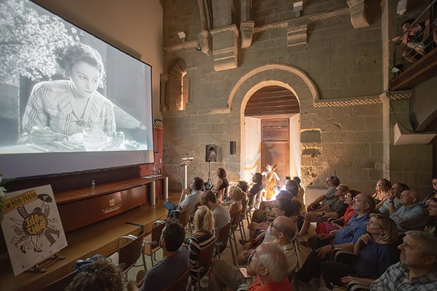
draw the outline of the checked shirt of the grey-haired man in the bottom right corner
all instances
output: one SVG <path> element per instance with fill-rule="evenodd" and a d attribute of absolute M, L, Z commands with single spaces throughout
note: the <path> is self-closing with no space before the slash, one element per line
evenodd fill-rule
<path fill-rule="evenodd" d="M 408 270 L 401 262 L 390 267 L 372 284 L 371 291 L 434 291 L 437 290 L 437 272 L 412 278 L 408 283 Z"/>

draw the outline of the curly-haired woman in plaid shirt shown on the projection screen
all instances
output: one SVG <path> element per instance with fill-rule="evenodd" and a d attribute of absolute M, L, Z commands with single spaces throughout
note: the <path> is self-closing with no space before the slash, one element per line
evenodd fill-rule
<path fill-rule="evenodd" d="M 113 104 L 97 91 L 104 78 L 102 56 L 96 49 L 76 43 L 57 51 L 56 60 L 69 80 L 34 86 L 23 115 L 19 143 L 60 141 L 84 128 L 113 135 Z"/>

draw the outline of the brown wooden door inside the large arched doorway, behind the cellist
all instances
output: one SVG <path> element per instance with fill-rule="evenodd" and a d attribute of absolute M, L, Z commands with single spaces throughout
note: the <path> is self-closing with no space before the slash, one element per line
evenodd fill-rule
<path fill-rule="evenodd" d="M 268 164 L 276 167 L 280 181 L 285 181 L 286 176 L 290 176 L 289 159 L 289 119 L 262 119 L 262 150 L 261 167 L 265 170 Z M 282 185 L 281 182 L 278 185 Z"/>

